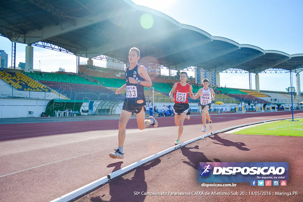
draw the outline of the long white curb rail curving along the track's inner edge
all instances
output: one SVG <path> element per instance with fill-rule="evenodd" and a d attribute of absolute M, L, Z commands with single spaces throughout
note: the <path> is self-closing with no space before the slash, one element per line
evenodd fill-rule
<path fill-rule="evenodd" d="M 302 118 L 302 117 L 294 117 L 294 118 Z M 181 147 L 183 147 L 187 144 L 190 144 L 190 143 L 195 142 L 195 141 L 200 140 L 200 139 L 204 139 L 205 137 L 211 136 L 213 134 L 229 131 L 229 130 L 232 130 L 232 129 L 235 129 L 235 128 L 244 127 L 244 126 L 248 126 L 248 125 L 266 123 L 266 122 L 270 122 L 270 121 L 279 121 L 279 120 L 285 120 L 285 119 L 291 119 L 291 118 L 279 118 L 279 119 L 272 119 L 272 120 L 268 120 L 268 121 L 258 121 L 258 122 L 254 122 L 254 123 L 250 123 L 250 124 L 242 124 L 242 125 L 238 125 L 238 126 L 234 126 L 234 127 L 225 128 L 225 129 L 215 131 L 215 132 L 212 132 L 212 133 L 208 133 L 208 134 L 202 135 L 200 137 L 196 137 L 194 139 L 191 139 L 191 140 L 188 140 L 188 141 L 183 142 L 181 144 L 178 144 L 174 147 L 170 147 L 166 150 L 160 151 L 157 154 L 146 157 L 146 158 L 144 158 L 140 161 L 137 161 L 133 164 L 130 164 L 130 165 L 124 167 L 124 168 L 121 168 L 118 171 L 112 172 L 112 173 L 108 174 L 105 177 L 102 177 L 102 178 L 100 178 L 100 179 L 98 179 L 98 180 L 96 180 L 96 181 L 94 181 L 90 184 L 87 184 L 83 187 L 80 187 L 80 188 L 78 188 L 78 189 L 76 189 L 76 190 L 74 190 L 74 191 L 72 191 L 68 194 L 63 195 L 62 197 L 56 198 L 56 199 L 52 200 L 51 202 L 67 202 L 67 201 L 73 200 L 73 199 L 77 198 L 78 196 L 81 196 L 82 194 L 85 194 L 86 192 L 89 192 L 89 191 L 95 189 L 96 187 L 107 183 L 108 180 L 111 180 L 115 177 L 126 174 L 127 172 L 129 172 L 129 171 L 131 171 L 131 170 L 135 169 L 136 167 L 139 167 L 143 164 L 146 164 L 149 161 L 152 161 L 152 160 L 154 160 L 158 157 L 161 157 L 165 154 L 168 154 L 172 151 L 175 151 L 175 150 L 177 150 L 177 149 L 179 149 L 179 148 L 181 148 Z"/>

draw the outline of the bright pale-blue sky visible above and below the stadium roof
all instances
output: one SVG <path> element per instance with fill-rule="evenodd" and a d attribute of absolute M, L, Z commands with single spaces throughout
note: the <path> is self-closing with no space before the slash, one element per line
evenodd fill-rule
<path fill-rule="evenodd" d="M 176 21 L 236 41 L 258 46 L 264 50 L 303 53 L 303 1 L 301 0 L 133 0 L 138 5 L 158 10 Z M 0 49 L 11 61 L 11 42 L 0 37 Z M 25 62 L 25 45 L 17 44 L 16 65 Z M 75 72 L 76 56 L 34 46 L 34 68 L 42 71 Z M 80 58 L 80 62 L 87 58 Z M 103 64 L 96 60 L 95 63 Z M 9 63 L 8 66 L 11 66 Z M 302 76 L 303 73 L 300 73 Z M 255 89 L 255 74 L 252 88 Z M 296 87 L 295 74 L 293 83 Z M 290 86 L 289 73 L 259 74 L 260 90 L 285 91 Z M 248 74 L 220 73 L 221 86 L 249 89 Z M 301 78 L 301 91 L 303 91 Z"/>

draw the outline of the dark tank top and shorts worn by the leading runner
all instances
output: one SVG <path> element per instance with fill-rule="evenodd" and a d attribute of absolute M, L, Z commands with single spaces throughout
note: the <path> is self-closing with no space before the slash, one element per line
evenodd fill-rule
<path fill-rule="evenodd" d="M 125 100 L 127 100 L 128 104 L 134 105 L 145 105 L 145 96 L 144 96 L 144 86 L 138 84 L 131 84 L 128 81 L 128 77 L 132 77 L 136 80 L 145 81 L 138 73 L 138 66 L 130 70 L 130 67 L 126 68 L 125 79 L 126 79 L 126 96 Z"/>

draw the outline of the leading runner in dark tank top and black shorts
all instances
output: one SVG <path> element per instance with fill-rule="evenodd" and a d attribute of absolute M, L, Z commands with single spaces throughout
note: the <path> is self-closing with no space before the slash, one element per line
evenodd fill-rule
<path fill-rule="evenodd" d="M 123 104 L 123 108 L 120 114 L 119 120 L 119 132 L 118 132 L 118 149 L 115 149 L 114 153 L 110 153 L 111 158 L 124 158 L 123 145 L 125 140 L 125 128 L 129 118 L 132 114 L 136 114 L 138 128 L 143 130 L 148 126 L 158 126 L 158 122 L 153 116 L 149 116 L 145 119 L 145 96 L 144 86 L 151 87 L 151 79 L 149 78 L 144 66 L 138 65 L 140 59 L 140 51 L 138 48 L 131 48 L 128 53 L 128 61 L 130 66 L 125 69 L 125 80 L 121 88 L 116 91 L 116 94 L 126 89 L 126 96 Z"/>

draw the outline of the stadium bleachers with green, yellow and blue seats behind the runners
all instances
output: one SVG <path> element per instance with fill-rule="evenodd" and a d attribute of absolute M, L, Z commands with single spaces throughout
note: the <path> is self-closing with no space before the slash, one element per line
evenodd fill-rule
<path fill-rule="evenodd" d="M 43 76 L 44 75 L 44 76 Z M 95 77 L 99 84 L 88 81 L 81 76 L 73 73 L 72 76 L 67 74 L 54 74 L 40 72 L 6 72 L 0 73 L 0 78 L 7 84 L 13 86 L 18 90 L 23 91 L 38 91 L 38 92 L 52 92 L 58 91 L 61 96 L 66 96 L 68 99 L 88 99 L 88 100 L 119 100 L 123 101 L 125 92 L 116 95 L 115 91 L 125 84 L 125 79 L 121 78 L 105 78 Z M 38 80 L 38 81 L 37 81 Z M 170 102 L 169 92 L 173 83 L 153 82 L 154 88 L 154 101 L 155 102 Z M 192 85 L 193 93 L 197 93 L 201 86 Z M 232 88 L 214 88 L 216 90 L 215 101 L 222 101 L 225 104 L 237 104 L 241 102 L 255 103 L 289 103 L 290 96 L 288 94 L 279 93 L 262 93 L 254 90 L 239 90 Z M 220 93 L 221 91 L 221 93 Z M 146 100 L 152 100 L 151 88 L 144 88 Z M 219 93 L 218 93 L 219 92 Z M 302 97 L 303 98 L 303 97 Z M 299 103 L 302 98 L 298 95 L 293 98 L 294 103 Z M 277 99 L 277 101 L 274 101 Z M 189 102 L 197 103 L 198 99 L 193 100 L 189 98 Z"/>

